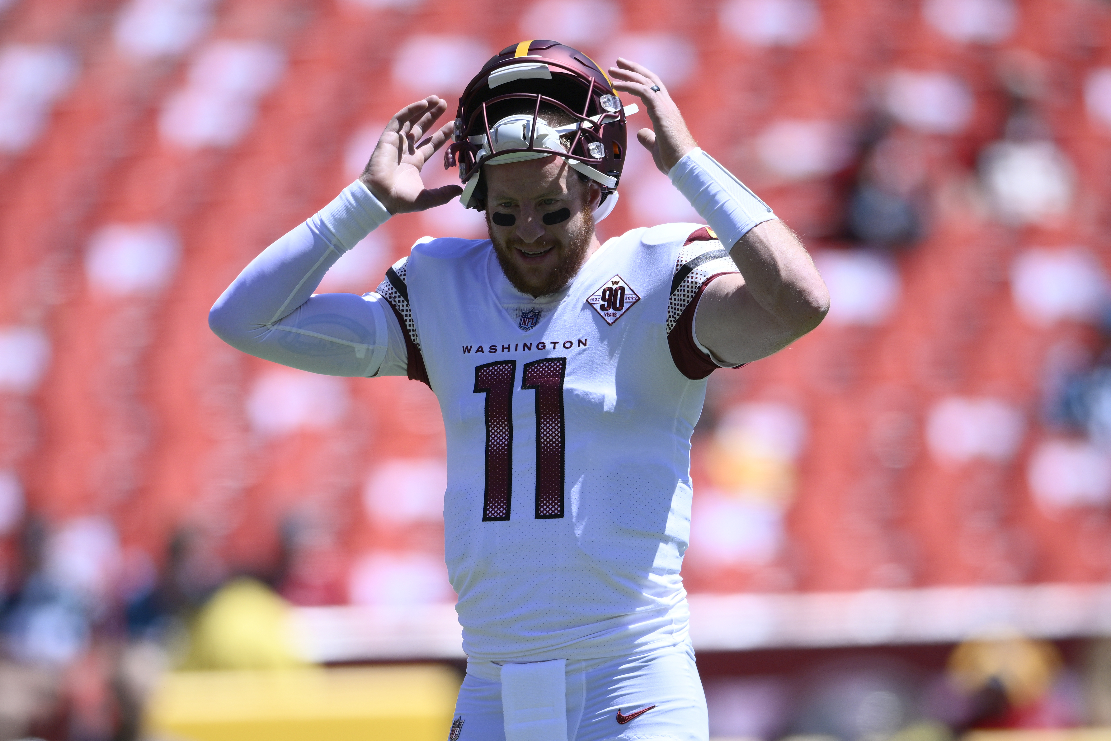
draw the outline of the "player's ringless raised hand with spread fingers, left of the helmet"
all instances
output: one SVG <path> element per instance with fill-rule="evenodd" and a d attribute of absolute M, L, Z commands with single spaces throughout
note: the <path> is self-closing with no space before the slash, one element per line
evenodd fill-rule
<path fill-rule="evenodd" d="M 390 213 L 424 211 L 463 192 L 459 186 L 428 189 L 420 179 L 421 168 L 451 136 L 453 123 L 432 129 L 446 110 L 448 101 L 437 96 L 410 103 L 390 119 L 378 140 L 359 179 Z"/>

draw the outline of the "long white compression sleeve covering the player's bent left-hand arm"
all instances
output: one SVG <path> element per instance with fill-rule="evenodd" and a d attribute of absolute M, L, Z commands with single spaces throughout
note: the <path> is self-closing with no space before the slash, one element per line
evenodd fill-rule
<path fill-rule="evenodd" d="M 312 294 L 389 217 L 366 186 L 351 183 L 247 266 L 209 312 L 212 331 L 243 352 L 316 373 L 372 375 L 383 361 L 397 366 L 404 340 L 380 296 Z"/>

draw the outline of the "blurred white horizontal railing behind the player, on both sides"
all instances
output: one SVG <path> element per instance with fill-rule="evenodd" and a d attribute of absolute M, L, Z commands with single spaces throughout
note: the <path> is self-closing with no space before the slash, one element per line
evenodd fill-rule
<path fill-rule="evenodd" d="M 690 605 L 700 651 L 948 643 L 994 628 L 1111 635 L 1111 584 L 692 594 Z M 298 608 L 294 625 L 313 661 L 464 658 L 451 604 Z"/>

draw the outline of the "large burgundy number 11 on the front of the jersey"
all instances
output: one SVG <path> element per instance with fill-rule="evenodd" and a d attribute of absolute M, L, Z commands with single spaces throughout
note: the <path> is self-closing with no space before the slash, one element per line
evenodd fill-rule
<path fill-rule="evenodd" d="M 567 358 L 526 363 L 521 390 L 536 391 L 538 520 L 563 517 L 563 379 Z M 508 520 L 513 484 L 513 387 L 517 361 L 499 360 L 474 369 L 474 393 L 486 400 L 486 494 L 482 520 Z"/>

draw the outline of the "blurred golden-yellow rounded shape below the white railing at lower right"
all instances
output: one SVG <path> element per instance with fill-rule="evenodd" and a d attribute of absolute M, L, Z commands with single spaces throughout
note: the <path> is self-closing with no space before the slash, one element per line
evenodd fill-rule
<path fill-rule="evenodd" d="M 977 692 L 994 678 L 1017 707 L 1044 694 L 1060 667 L 1052 643 L 1009 629 L 964 641 L 949 657 L 949 674 L 961 690 Z"/>

